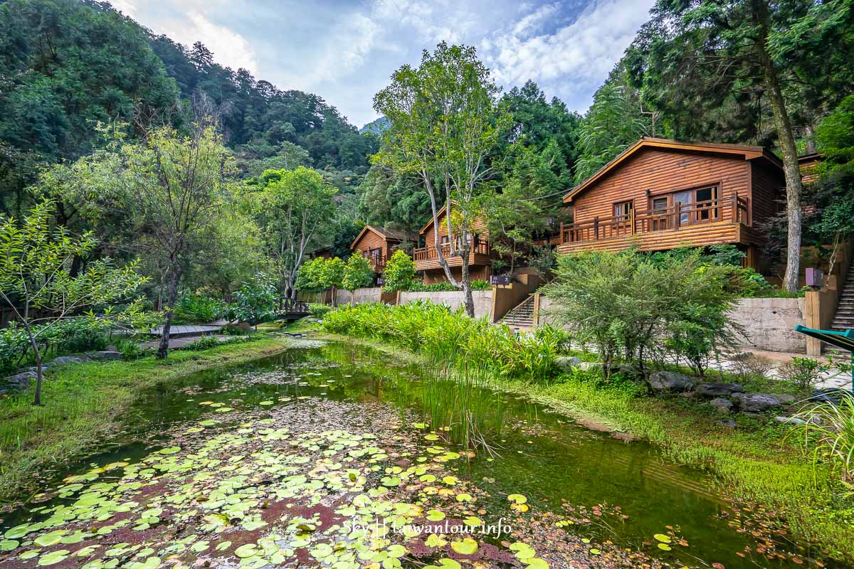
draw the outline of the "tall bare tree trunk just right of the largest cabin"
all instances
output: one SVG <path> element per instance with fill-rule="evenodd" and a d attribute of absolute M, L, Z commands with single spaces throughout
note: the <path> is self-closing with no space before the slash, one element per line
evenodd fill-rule
<path fill-rule="evenodd" d="M 757 55 L 763 68 L 765 87 L 771 102 L 777 136 L 780 137 L 780 149 L 783 154 L 783 172 L 786 176 L 786 213 L 788 220 L 788 235 L 786 249 L 786 275 L 783 276 L 783 287 L 790 293 L 798 290 L 798 275 L 800 273 L 800 243 L 801 243 L 801 183 L 800 167 L 798 166 L 798 148 L 795 146 L 795 136 L 792 130 L 792 120 L 786 109 L 786 100 L 780 86 L 780 78 L 774 61 L 766 49 L 768 39 L 768 6 L 766 3 L 754 4 L 753 17 L 757 26 L 761 27 L 760 39 L 757 43 Z"/>

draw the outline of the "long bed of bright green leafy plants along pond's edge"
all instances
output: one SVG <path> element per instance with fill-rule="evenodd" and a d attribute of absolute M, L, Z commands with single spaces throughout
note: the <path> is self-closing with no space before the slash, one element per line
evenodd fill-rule
<path fill-rule="evenodd" d="M 554 332 L 517 337 L 506 326 L 430 302 L 345 307 L 326 315 L 323 328 L 417 351 L 442 367 L 543 383 L 559 374 L 556 359 L 566 340 Z"/>

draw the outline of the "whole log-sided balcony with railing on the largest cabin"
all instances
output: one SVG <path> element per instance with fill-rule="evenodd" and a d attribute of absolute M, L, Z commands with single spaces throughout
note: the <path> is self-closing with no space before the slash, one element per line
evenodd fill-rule
<path fill-rule="evenodd" d="M 747 199 L 735 195 L 561 224 L 558 251 L 620 251 L 632 246 L 640 251 L 663 251 L 755 241 Z"/>

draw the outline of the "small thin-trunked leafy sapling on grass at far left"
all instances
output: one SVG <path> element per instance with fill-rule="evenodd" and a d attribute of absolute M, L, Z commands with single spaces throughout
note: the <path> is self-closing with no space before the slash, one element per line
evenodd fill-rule
<path fill-rule="evenodd" d="M 54 212 L 54 204 L 44 201 L 22 224 L 14 218 L 0 220 L 0 298 L 12 308 L 29 339 L 36 360 L 36 405 L 42 403 L 44 377 L 39 338 L 69 316 L 126 299 L 147 280 L 137 275 L 134 264 L 116 268 L 108 258 L 73 272 L 75 259 L 91 253 L 97 243 L 90 234 L 75 238 L 65 228 L 51 229 Z M 121 315 L 108 310 L 102 317 L 138 310 L 139 305 L 132 304 Z"/>

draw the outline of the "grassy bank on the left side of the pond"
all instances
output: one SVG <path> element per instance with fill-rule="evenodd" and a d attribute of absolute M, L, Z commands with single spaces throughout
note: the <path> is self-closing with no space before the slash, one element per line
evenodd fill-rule
<path fill-rule="evenodd" d="M 149 386 L 179 375 L 272 355 L 292 340 L 284 335 L 202 351 L 171 351 L 166 361 L 76 363 L 51 369 L 44 405 L 32 405 L 32 387 L 0 399 L 0 501 L 26 498 L 38 475 L 96 451 L 122 426 L 126 409 Z"/>

